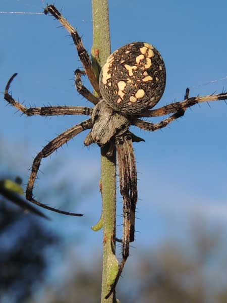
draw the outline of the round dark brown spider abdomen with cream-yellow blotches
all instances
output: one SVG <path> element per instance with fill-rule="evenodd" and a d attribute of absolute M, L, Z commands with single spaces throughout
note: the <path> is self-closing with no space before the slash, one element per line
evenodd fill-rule
<path fill-rule="evenodd" d="M 136 115 L 158 103 L 165 79 L 164 61 L 157 49 L 146 42 L 133 42 L 108 57 L 99 86 L 114 110 Z"/>

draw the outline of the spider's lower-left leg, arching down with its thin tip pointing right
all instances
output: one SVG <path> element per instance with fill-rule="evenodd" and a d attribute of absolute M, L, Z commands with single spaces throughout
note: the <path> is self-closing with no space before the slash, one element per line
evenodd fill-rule
<path fill-rule="evenodd" d="M 61 133 L 58 137 L 54 138 L 51 140 L 41 151 L 38 153 L 38 155 L 35 157 L 33 164 L 32 164 L 32 169 L 31 169 L 31 175 L 29 177 L 27 189 L 26 189 L 26 199 L 31 201 L 32 203 L 45 208 L 47 210 L 60 213 L 60 214 L 65 214 L 65 215 L 70 215 L 70 216 L 82 216 L 81 214 L 74 214 L 74 213 L 69 213 L 69 212 L 64 212 L 60 211 L 51 207 L 48 207 L 45 204 L 40 203 L 39 201 L 36 201 L 33 197 L 33 187 L 35 183 L 35 179 L 39 170 L 39 166 L 41 163 L 42 158 L 46 158 L 49 155 L 53 153 L 56 149 L 61 147 L 63 144 L 68 142 L 70 139 L 75 137 L 77 134 L 82 132 L 85 129 L 90 129 L 92 127 L 92 121 L 91 119 L 88 119 L 84 122 L 81 122 L 68 130 L 64 131 Z"/>

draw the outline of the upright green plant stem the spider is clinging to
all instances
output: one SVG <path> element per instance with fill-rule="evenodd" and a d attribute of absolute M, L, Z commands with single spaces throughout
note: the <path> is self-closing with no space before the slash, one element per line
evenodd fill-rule
<path fill-rule="evenodd" d="M 98 78 L 100 67 L 110 55 L 108 0 L 92 0 L 93 45 L 92 64 Z M 115 292 L 105 299 L 118 272 L 115 256 L 116 235 L 116 150 L 111 158 L 101 147 L 101 193 L 103 220 L 103 267 L 101 303 L 116 303 Z"/>

